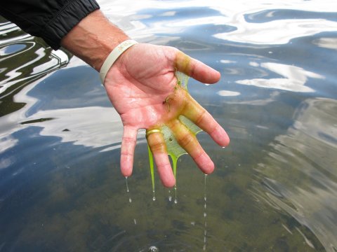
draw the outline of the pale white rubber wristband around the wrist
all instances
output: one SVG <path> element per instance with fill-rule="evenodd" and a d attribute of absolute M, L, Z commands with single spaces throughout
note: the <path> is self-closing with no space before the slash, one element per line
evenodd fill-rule
<path fill-rule="evenodd" d="M 109 71 L 114 62 L 118 59 L 119 56 L 121 56 L 123 52 L 125 52 L 128 48 L 131 48 L 132 45 L 136 45 L 136 43 L 138 42 L 131 39 L 123 41 L 117 45 L 114 50 L 112 50 L 112 52 L 110 52 L 110 55 L 107 55 L 107 58 L 100 68 L 100 80 L 102 80 L 103 85 L 107 71 Z"/>

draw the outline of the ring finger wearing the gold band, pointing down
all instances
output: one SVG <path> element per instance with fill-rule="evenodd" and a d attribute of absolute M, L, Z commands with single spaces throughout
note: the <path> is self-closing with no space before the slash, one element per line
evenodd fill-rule
<path fill-rule="evenodd" d="M 163 134 L 161 132 L 149 134 L 147 136 L 147 144 L 149 144 L 154 162 L 156 162 L 161 183 L 166 187 L 173 187 L 176 184 L 176 179 L 174 178 L 169 156 L 167 155 Z"/>

